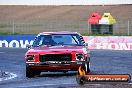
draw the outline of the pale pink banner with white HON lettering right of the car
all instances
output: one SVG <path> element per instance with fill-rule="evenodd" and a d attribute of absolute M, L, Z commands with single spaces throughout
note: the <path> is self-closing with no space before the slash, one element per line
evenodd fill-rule
<path fill-rule="evenodd" d="M 84 36 L 89 49 L 132 50 L 132 36 Z"/>

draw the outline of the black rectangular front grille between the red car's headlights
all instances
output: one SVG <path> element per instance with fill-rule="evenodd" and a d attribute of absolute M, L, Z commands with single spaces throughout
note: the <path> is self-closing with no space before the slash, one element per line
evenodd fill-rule
<path fill-rule="evenodd" d="M 72 55 L 71 54 L 45 54 L 45 55 L 40 55 L 39 60 L 40 60 L 40 62 L 44 62 L 44 61 L 71 61 Z"/>

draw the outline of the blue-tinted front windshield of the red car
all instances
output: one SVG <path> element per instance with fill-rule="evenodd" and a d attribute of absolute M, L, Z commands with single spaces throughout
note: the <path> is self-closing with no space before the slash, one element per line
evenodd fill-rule
<path fill-rule="evenodd" d="M 50 35 L 38 35 L 34 42 L 33 47 L 38 46 L 58 46 L 58 45 L 70 45 L 70 46 L 82 46 L 84 42 L 78 34 L 50 34 Z"/>

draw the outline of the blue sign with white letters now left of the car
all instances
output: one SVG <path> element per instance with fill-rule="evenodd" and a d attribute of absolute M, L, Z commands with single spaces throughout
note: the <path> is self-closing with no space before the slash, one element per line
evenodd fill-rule
<path fill-rule="evenodd" d="M 0 47 L 26 48 L 26 44 L 33 43 L 35 35 L 1 35 Z"/>

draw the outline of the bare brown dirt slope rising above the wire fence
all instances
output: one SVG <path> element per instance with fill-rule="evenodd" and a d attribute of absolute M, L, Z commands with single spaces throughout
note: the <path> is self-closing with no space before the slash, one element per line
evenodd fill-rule
<path fill-rule="evenodd" d="M 86 21 L 92 12 L 110 12 L 117 20 L 132 17 L 132 5 L 113 6 L 0 6 L 0 20 Z"/>

